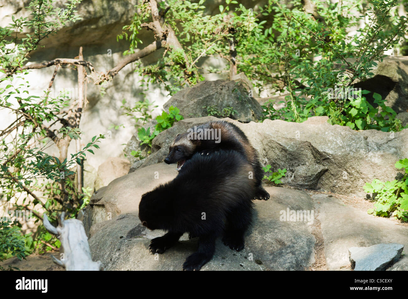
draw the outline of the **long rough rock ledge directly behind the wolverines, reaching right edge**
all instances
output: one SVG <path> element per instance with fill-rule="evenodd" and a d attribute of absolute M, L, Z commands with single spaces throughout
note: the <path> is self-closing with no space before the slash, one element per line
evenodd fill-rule
<path fill-rule="evenodd" d="M 215 119 L 199 117 L 175 123 L 153 140 L 152 154 L 140 167 L 162 162 L 178 133 Z M 400 172 L 395 162 L 408 157 L 408 129 L 395 133 L 354 131 L 328 124 L 327 116 L 310 117 L 303 123 L 224 120 L 244 131 L 259 151 L 262 164 L 271 164 L 274 170 L 286 168 L 282 182 L 298 188 L 365 196 L 366 182 L 374 178 L 392 181 Z"/>

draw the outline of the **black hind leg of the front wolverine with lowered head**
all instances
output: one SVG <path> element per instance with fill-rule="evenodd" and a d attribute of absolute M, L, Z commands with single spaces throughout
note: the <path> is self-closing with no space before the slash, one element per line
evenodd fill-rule
<path fill-rule="evenodd" d="M 250 204 L 233 209 L 226 217 L 227 223 L 222 241 L 232 250 L 244 249 L 244 235 L 252 219 Z"/>

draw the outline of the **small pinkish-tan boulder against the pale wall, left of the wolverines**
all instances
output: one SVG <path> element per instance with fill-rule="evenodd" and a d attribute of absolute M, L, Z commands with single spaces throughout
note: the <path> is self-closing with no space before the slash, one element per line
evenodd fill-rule
<path fill-rule="evenodd" d="M 127 159 L 110 157 L 98 167 L 98 175 L 95 180 L 95 189 L 107 186 L 114 179 L 126 175 L 129 172 L 130 162 Z"/>

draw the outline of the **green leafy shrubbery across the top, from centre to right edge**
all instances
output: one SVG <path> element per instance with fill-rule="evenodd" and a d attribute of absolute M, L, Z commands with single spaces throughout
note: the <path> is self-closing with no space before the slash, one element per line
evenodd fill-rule
<path fill-rule="evenodd" d="M 209 15 L 204 0 L 158 3 L 159 10 L 166 11 L 164 24 L 171 25 L 182 48 L 169 47 L 156 64 L 140 65 L 137 71 L 143 76 L 142 84 L 157 82 L 174 94 L 203 80 L 204 71 L 228 71 L 228 64 L 221 69 L 197 66 L 206 57 L 217 56 L 229 60 L 230 68 L 235 65 L 237 73 L 243 72 L 259 93 L 266 86 L 289 92 L 283 109 L 275 111 L 271 103 L 264 105 L 265 118 L 302 122 L 311 116 L 328 115 L 330 123 L 354 129 L 401 129 L 394 111 L 377 95 L 381 111 L 363 99 L 327 97 L 330 88 L 352 87 L 356 80 L 373 76 L 384 51 L 398 47 L 404 39 L 408 19 L 396 12 L 398 0 L 317 1 L 314 17 L 298 0 L 268 0 L 255 11 L 239 1 L 220 4 L 220 13 Z M 151 21 L 147 2 L 138 4 L 137 9 L 132 24 L 124 26 L 126 31 L 118 36 L 129 40 L 128 53 L 134 53 L 142 42 L 138 38 L 142 24 Z M 358 34 L 350 35 L 361 18 L 371 21 Z M 236 41 L 234 63 L 229 47 L 232 40 Z M 209 115 L 228 113 L 206 108 Z"/>

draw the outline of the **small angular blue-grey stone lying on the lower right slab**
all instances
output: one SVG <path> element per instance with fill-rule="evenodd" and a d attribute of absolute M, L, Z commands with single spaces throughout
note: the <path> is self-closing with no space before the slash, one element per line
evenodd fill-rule
<path fill-rule="evenodd" d="M 355 271 L 383 271 L 401 257 L 402 250 L 402 244 L 376 244 L 348 248 L 348 254 Z"/>

